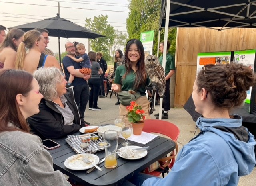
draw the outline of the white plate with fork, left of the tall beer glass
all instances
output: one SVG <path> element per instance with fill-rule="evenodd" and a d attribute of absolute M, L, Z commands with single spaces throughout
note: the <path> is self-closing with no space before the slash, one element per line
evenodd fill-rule
<path fill-rule="evenodd" d="M 86 170 L 94 167 L 91 163 L 85 163 L 83 161 L 84 157 L 89 159 L 94 164 L 98 164 L 100 161 L 98 156 L 94 154 L 84 153 L 70 156 L 68 159 L 65 160 L 64 165 L 66 166 L 66 168 L 69 168 L 71 170 Z"/>

